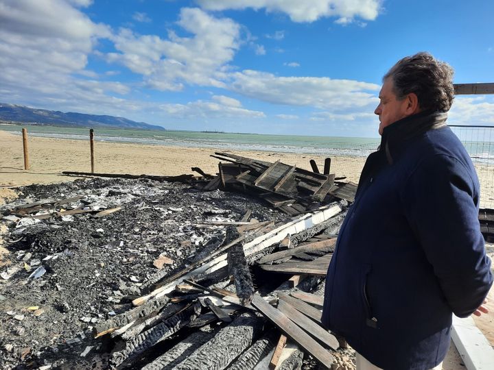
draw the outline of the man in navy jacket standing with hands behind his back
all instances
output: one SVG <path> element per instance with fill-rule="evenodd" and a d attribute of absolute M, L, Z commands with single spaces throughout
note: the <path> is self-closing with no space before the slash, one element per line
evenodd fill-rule
<path fill-rule="evenodd" d="M 384 76 L 381 145 L 366 161 L 327 272 L 322 322 L 357 367 L 433 369 L 451 314 L 478 310 L 493 284 L 478 222 L 479 182 L 446 125 L 453 70 L 429 53 Z"/>

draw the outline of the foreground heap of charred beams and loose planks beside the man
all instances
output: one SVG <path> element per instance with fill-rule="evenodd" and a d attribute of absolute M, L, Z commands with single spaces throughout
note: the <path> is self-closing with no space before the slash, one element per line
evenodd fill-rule
<path fill-rule="evenodd" d="M 335 202 L 242 236 L 236 230 L 242 224 L 219 225 L 226 237 L 207 256 L 161 280 L 150 277 L 154 288 L 142 291 L 134 308 L 95 326 L 97 340 L 113 343 L 111 367 L 255 369 L 279 361 L 279 369 L 292 369 L 307 355 L 331 367 L 338 341 L 322 328 L 316 287 L 324 284 L 345 205 Z M 312 260 L 301 260 L 303 254 Z M 279 260 L 285 262 L 273 264 Z M 281 285 L 266 286 L 275 278 Z M 293 349 L 278 360 L 281 335 Z"/>

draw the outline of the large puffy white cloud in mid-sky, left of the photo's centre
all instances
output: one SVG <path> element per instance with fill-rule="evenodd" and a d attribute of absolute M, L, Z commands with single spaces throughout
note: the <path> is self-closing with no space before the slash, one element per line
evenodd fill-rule
<path fill-rule="evenodd" d="M 158 90 L 182 90 L 184 83 L 224 86 L 223 69 L 239 48 L 239 25 L 198 8 L 181 9 L 178 25 L 193 36 L 180 37 L 170 31 L 164 40 L 121 29 L 113 38 L 119 53 L 108 53 L 108 61 L 143 75 L 145 84 Z"/>

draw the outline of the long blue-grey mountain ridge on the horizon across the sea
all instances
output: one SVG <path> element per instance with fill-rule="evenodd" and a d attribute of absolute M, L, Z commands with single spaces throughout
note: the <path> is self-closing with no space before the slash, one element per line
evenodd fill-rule
<path fill-rule="evenodd" d="M 60 112 L 0 103 L 0 120 L 32 123 L 38 125 L 58 125 L 71 127 L 113 127 L 145 130 L 165 130 L 149 123 L 131 121 L 123 117 L 102 116 L 76 112 Z"/>

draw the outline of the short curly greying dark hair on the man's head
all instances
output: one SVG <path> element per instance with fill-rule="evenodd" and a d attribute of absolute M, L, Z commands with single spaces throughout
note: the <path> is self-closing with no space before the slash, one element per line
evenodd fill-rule
<path fill-rule="evenodd" d="M 421 110 L 447 112 L 454 99 L 453 74 L 449 64 L 422 52 L 399 60 L 384 75 L 383 81 L 392 78 L 399 100 L 415 93 Z"/>

